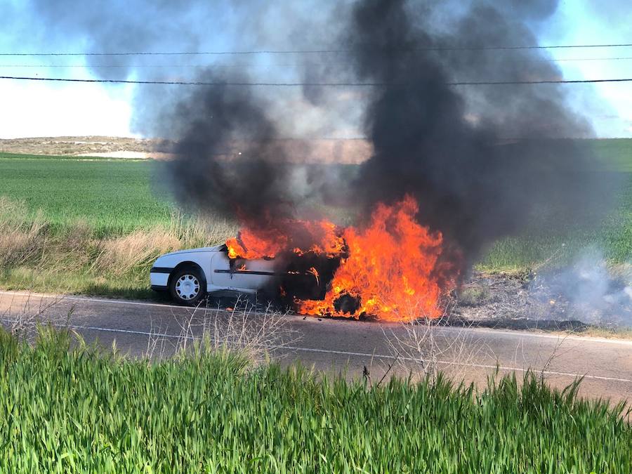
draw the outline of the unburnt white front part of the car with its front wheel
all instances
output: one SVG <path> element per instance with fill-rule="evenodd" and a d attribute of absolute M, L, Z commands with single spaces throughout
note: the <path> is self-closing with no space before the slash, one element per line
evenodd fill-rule
<path fill-rule="evenodd" d="M 230 259 L 225 245 L 172 252 L 150 270 L 155 291 L 169 291 L 176 303 L 196 305 L 207 294 L 256 294 L 275 287 L 272 259 Z"/>

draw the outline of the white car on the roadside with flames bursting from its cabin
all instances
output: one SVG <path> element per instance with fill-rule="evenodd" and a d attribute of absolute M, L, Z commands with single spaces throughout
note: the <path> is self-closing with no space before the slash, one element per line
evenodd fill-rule
<path fill-rule="evenodd" d="M 300 237 L 242 229 L 222 245 L 160 256 L 150 270 L 152 289 L 184 305 L 224 294 L 261 294 L 288 306 L 322 300 L 345 256 L 343 239 L 324 221 L 291 226 Z"/>

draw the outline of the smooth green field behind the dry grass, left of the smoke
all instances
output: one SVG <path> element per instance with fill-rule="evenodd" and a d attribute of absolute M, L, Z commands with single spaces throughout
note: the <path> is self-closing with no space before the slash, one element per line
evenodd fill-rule
<path fill-rule="evenodd" d="M 175 207 L 153 160 L 35 157 L 0 154 L 0 195 L 41 209 L 56 228 L 77 221 L 99 236 L 169 223 Z"/>

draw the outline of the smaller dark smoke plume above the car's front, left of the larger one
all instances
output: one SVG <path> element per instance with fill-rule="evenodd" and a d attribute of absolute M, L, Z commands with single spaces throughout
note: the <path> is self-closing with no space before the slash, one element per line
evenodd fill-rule
<path fill-rule="evenodd" d="M 181 202 L 262 227 L 291 218 L 288 157 L 260 98 L 241 87 L 194 89 L 172 113 L 186 124 L 168 164 Z"/>

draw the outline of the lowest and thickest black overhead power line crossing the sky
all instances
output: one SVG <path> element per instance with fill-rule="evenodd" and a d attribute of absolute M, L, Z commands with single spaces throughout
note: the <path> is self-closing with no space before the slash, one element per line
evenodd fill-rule
<path fill-rule="evenodd" d="M 387 82 L 204 82 L 204 81 L 132 81 L 126 79 L 66 79 L 62 77 L 20 77 L 0 76 L 0 79 L 15 79 L 18 81 L 58 81 L 58 82 L 88 82 L 104 84 L 165 84 L 175 86 L 271 86 L 271 87 L 386 87 L 404 86 L 405 84 Z M 576 80 L 542 80 L 542 81 L 462 81 L 446 82 L 448 86 L 505 86 L 521 84 L 586 84 L 595 82 L 631 82 L 626 79 L 576 79 Z"/>

